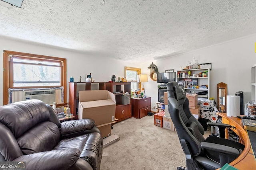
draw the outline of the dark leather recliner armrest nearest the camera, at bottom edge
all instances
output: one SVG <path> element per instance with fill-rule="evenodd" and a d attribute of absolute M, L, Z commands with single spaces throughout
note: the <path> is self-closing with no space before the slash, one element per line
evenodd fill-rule
<path fill-rule="evenodd" d="M 26 162 L 28 170 L 63 170 L 76 163 L 81 152 L 79 149 L 60 149 L 22 155 L 12 161 Z"/>

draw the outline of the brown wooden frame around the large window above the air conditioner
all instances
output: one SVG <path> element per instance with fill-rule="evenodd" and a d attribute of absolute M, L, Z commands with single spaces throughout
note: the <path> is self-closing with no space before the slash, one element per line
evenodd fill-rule
<path fill-rule="evenodd" d="M 42 88 L 42 86 L 29 86 L 29 87 L 13 87 L 13 70 L 12 70 L 12 63 L 10 62 L 10 56 L 18 56 L 20 58 L 31 58 L 36 59 L 37 61 L 60 61 L 62 63 L 61 66 L 61 78 L 60 78 L 60 86 L 63 86 L 63 92 L 64 92 L 64 102 L 66 102 L 66 93 L 67 93 L 67 80 L 66 80 L 66 59 L 59 58 L 59 57 L 50 57 L 50 56 L 44 56 L 44 55 L 36 55 L 36 54 L 29 54 L 29 53 L 20 53 L 15 51 L 6 51 L 4 50 L 3 55 L 3 62 L 4 62 L 4 82 L 3 82 L 3 104 L 8 104 L 8 89 L 9 88 Z M 49 88 L 49 87 L 56 87 L 56 86 L 43 86 L 43 88 Z M 59 86 L 58 86 L 59 87 Z"/>

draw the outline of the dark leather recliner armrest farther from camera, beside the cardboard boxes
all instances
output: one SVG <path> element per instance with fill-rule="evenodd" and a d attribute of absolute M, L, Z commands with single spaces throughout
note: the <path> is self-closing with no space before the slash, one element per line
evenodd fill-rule
<path fill-rule="evenodd" d="M 60 134 L 62 137 L 74 137 L 91 132 L 99 132 L 98 128 L 94 126 L 93 119 L 79 119 L 64 121 L 60 124 Z"/>

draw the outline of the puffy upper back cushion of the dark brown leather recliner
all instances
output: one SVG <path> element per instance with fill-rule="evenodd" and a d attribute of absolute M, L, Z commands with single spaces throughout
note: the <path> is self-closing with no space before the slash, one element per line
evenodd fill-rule
<path fill-rule="evenodd" d="M 26 100 L 0 107 L 0 122 L 10 129 L 16 139 L 49 118 L 46 104 L 40 100 Z"/>

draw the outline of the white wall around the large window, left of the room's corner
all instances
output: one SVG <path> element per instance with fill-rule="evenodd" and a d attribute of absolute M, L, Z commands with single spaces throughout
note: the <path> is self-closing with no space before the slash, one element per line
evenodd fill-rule
<path fill-rule="evenodd" d="M 118 76 L 124 77 L 125 66 L 140 68 L 139 64 L 110 60 L 104 56 L 92 57 L 82 53 L 31 45 L 28 43 L 21 43 L 7 39 L 0 39 L 0 51 L 2 51 L 0 53 L 0 70 L 3 70 L 3 50 L 66 58 L 67 90 L 68 82 L 70 81 L 71 76 L 73 76 L 74 82 L 77 82 L 79 80 L 79 76 L 82 76 L 82 81 L 84 82 L 86 75 L 90 74 L 91 72 L 92 78 L 95 79 L 95 82 L 108 82 L 111 80 L 113 74 L 116 75 L 116 78 Z M 0 106 L 2 105 L 3 74 L 0 74 Z"/>

